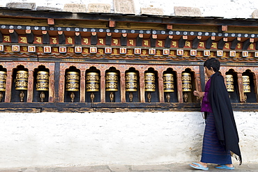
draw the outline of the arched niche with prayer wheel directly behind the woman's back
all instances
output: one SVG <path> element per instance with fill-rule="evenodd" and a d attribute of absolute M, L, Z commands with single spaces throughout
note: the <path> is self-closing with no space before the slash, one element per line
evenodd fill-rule
<path fill-rule="evenodd" d="M 234 69 L 229 69 L 225 74 L 226 74 L 226 77 L 225 77 L 226 87 L 229 93 L 230 100 L 233 103 L 239 102 L 240 97 L 239 97 L 237 73 L 234 71 Z M 232 83 L 232 79 L 230 79 L 231 76 L 233 76 L 233 83 Z"/>

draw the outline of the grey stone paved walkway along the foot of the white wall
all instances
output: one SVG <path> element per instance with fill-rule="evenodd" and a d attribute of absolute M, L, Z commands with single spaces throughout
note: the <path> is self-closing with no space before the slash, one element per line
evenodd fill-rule
<path fill-rule="evenodd" d="M 22 168 L 22 169 L 0 169 L 0 172 L 172 172 L 172 171 L 192 171 L 188 164 L 158 164 L 158 165 L 104 165 L 104 166 L 73 166 L 73 167 L 51 167 L 51 168 Z M 215 169 L 214 165 L 209 165 L 209 171 L 229 171 Z M 236 165 L 234 171 L 258 172 L 258 164 Z"/>

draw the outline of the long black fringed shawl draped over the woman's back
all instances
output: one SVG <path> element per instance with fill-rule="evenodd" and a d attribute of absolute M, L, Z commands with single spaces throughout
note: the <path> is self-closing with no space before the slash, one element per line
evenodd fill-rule
<path fill-rule="evenodd" d="M 220 143 L 238 155 L 238 160 L 242 164 L 241 151 L 238 146 L 239 138 L 234 120 L 232 105 L 229 93 L 225 86 L 225 81 L 220 72 L 215 72 L 211 77 L 211 87 L 208 93 L 208 100 L 214 114 L 215 127 Z"/>

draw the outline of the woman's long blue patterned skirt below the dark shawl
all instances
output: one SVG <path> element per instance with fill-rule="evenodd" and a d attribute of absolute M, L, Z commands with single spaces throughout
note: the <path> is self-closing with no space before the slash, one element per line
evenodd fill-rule
<path fill-rule="evenodd" d="M 225 147 L 222 146 L 218 140 L 215 120 L 212 113 L 208 113 L 206 119 L 201 162 L 213 164 L 232 164 L 229 150 L 225 150 Z"/>

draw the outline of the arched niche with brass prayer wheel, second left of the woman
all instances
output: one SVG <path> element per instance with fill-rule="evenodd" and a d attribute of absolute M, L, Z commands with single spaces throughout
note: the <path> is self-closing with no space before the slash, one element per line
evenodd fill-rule
<path fill-rule="evenodd" d="M 177 98 L 177 72 L 168 68 L 163 72 L 165 102 L 179 102 Z"/>

